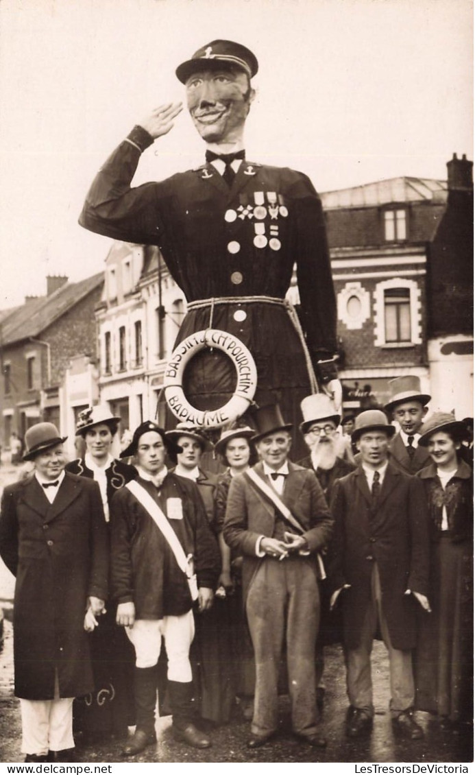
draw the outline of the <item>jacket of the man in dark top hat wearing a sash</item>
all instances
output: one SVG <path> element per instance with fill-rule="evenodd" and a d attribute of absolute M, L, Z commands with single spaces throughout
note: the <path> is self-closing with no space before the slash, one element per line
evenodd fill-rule
<path fill-rule="evenodd" d="M 317 553 L 328 543 L 331 536 L 332 515 L 322 488 L 312 472 L 290 461 L 288 467 L 289 474 L 285 478 L 281 500 L 304 528 L 303 536 L 310 552 Z M 257 463 L 253 470 L 269 484 L 263 473 L 262 463 Z M 276 533 L 283 528 L 295 532 L 290 525 L 282 525 L 275 506 L 256 490 L 246 474 L 233 477 L 229 487 L 223 536 L 231 549 L 243 555 L 244 599 L 259 563 L 263 560 L 263 557 L 256 556 L 257 539 L 259 536 L 276 537 Z"/>

